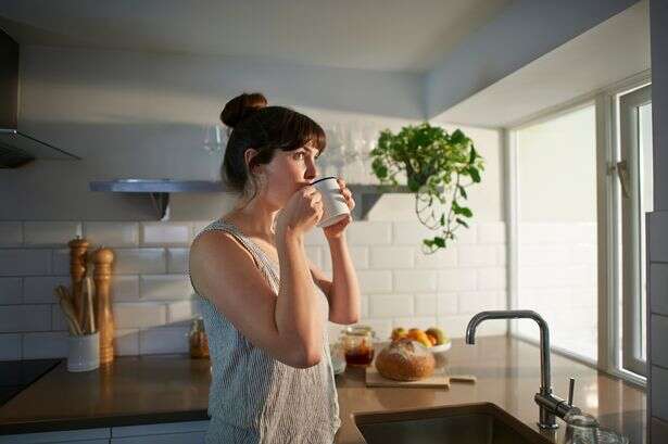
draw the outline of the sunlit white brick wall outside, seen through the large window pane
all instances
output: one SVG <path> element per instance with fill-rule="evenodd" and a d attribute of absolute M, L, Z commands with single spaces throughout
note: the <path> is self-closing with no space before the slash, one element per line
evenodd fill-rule
<path fill-rule="evenodd" d="M 596 224 L 520 224 L 516 306 L 538 312 L 552 344 L 596 359 Z M 518 321 L 520 335 L 538 340 L 534 322 Z"/>

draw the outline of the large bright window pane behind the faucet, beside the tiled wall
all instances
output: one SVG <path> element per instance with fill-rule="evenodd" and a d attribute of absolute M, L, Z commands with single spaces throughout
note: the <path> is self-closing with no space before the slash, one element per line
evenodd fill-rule
<path fill-rule="evenodd" d="M 590 105 L 517 131 L 518 303 L 552 344 L 597 357 L 596 140 Z M 518 334 L 539 338 L 530 321 Z"/>

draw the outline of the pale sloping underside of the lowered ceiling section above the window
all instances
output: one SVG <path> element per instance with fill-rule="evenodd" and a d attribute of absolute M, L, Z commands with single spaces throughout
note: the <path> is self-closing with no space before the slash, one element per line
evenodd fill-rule
<path fill-rule="evenodd" d="M 651 67 L 641 1 L 450 107 L 434 122 L 512 127 Z"/>

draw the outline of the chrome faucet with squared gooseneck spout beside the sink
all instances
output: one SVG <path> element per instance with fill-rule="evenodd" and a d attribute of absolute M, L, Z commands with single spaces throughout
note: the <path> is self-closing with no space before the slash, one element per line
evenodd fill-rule
<path fill-rule="evenodd" d="M 533 399 L 539 406 L 538 426 L 541 429 L 556 429 L 556 416 L 564 419 L 568 413 L 580 413 L 578 407 L 572 406 L 572 392 L 575 379 L 570 378 L 568 402 L 552 394 L 551 368 L 550 368 L 550 329 L 547 322 L 535 312 L 529 309 L 508 309 L 480 312 L 468 321 L 466 327 L 466 343 L 476 343 L 476 328 L 487 319 L 533 319 L 541 330 L 541 386 Z"/>

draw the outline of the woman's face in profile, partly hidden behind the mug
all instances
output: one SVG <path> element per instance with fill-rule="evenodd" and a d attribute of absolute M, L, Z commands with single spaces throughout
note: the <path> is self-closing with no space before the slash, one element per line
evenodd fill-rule
<path fill-rule="evenodd" d="M 263 198 L 272 206 L 282 208 L 292 194 L 317 177 L 317 156 L 318 150 L 311 144 L 293 151 L 276 150 L 272 162 L 262 165 Z"/>

